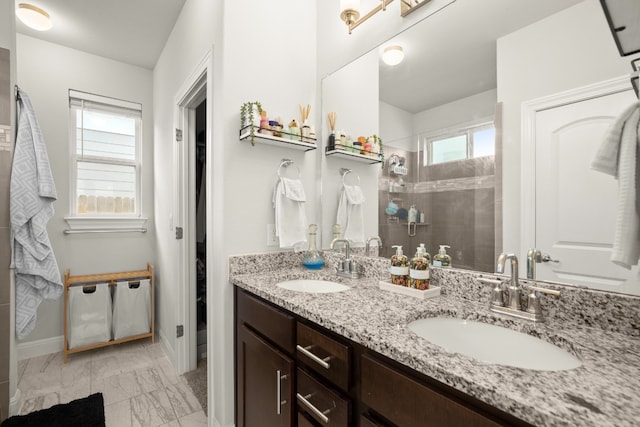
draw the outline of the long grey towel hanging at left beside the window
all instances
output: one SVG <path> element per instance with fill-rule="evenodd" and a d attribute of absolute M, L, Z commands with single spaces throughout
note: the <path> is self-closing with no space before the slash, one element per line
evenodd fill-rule
<path fill-rule="evenodd" d="M 49 242 L 47 222 L 53 216 L 56 188 L 47 150 L 31 101 L 18 92 L 16 137 L 9 206 L 13 262 L 16 274 L 16 333 L 33 331 L 43 299 L 62 295 L 58 264 Z"/>

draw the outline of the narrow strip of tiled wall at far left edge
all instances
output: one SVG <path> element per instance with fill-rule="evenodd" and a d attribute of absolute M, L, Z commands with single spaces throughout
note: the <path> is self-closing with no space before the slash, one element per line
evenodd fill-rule
<path fill-rule="evenodd" d="M 0 48 L 0 422 L 9 414 L 9 180 L 13 154 L 9 50 Z"/>

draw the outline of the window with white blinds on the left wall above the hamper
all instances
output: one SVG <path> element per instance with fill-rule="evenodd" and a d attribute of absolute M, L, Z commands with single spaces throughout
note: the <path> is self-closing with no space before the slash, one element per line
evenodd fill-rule
<path fill-rule="evenodd" d="M 69 91 L 70 216 L 141 216 L 140 104 Z"/>

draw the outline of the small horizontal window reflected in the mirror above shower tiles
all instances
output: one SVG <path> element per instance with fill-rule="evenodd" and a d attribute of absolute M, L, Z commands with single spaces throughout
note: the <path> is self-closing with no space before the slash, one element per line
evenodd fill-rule
<path fill-rule="evenodd" d="M 453 131 L 448 135 L 428 138 L 424 142 L 423 165 L 475 159 L 495 155 L 496 130 L 481 125 Z"/>

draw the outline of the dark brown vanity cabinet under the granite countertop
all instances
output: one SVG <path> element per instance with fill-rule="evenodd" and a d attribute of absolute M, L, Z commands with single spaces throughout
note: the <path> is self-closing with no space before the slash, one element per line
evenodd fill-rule
<path fill-rule="evenodd" d="M 236 288 L 238 427 L 529 424 Z"/>

